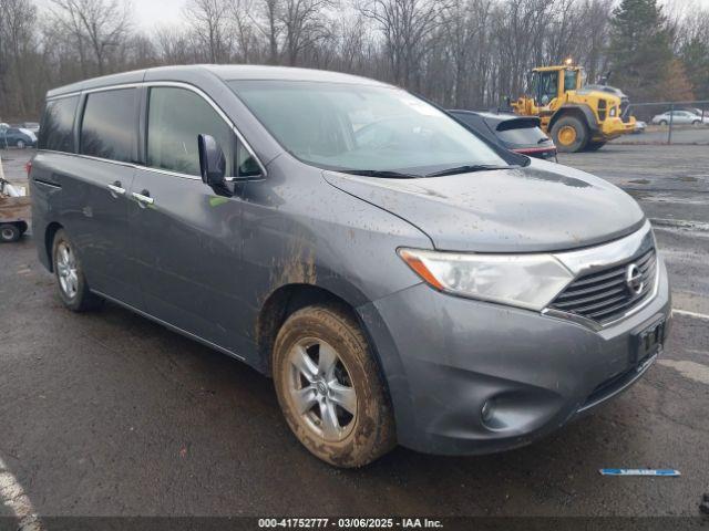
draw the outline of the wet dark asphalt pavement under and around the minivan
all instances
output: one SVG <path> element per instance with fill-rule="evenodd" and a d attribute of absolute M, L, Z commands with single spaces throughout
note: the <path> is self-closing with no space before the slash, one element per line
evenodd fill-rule
<path fill-rule="evenodd" d="M 25 154 L 7 154 L 22 181 Z M 675 296 L 661 360 L 619 398 L 522 449 L 311 457 L 271 382 L 113 304 L 61 306 L 31 237 L 0 247 L 0 514 L 699 516 L 709 491 L 709 149 L 567 155 L 654 220 Z M 602 477 L 676 468 L 680 478 Z"/>

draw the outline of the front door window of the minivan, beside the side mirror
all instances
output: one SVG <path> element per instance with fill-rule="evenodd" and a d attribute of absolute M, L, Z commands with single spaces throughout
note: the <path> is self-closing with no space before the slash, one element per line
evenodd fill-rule
<path fill-rule="evenodd" d="M 219 143 L 227 160 L 227 176 L 234 176 L 236 135 L 212 105 L 186 88 L 151 88 L 148 166 L 198 176 L 197 135 L 201 134 L 212 135 Z M 238 163 L 245 170 L 250 170 L 248 155 L 239 157 Z"/>

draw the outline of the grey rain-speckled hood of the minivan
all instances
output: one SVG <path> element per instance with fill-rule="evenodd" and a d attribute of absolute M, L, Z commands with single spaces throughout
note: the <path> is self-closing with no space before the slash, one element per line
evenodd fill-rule
<path fill-rule="evenodd" d="M 518 169 L 420 179 L 323 175 L 418 227 L 440 250 L 577 249 L 629 235 L 645 221 L 638 204 L 608 181 L 536 159 Z"/>

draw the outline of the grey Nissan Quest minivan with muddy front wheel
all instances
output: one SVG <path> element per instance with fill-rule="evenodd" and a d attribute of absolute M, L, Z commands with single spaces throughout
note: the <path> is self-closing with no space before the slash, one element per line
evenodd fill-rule
<path fill-rule="evenodd" d="M 70 310 L 112 301 L 273 377 L 339 467 L 528 444 L 637 382 L 668 330 L 629 196 L 362 77 L 207 65 L 56 88 L 30 181 Z"/>

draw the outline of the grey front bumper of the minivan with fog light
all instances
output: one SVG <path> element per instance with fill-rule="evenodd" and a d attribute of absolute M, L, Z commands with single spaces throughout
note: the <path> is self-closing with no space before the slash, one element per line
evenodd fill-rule
<path fill-rule="evenodd" d="M 670 316 L 659 257 L 658 267 L 655 299 L 600 331 L 425 284 L 360 308 L 387 376 L 399 442 L 448 455 L 510 449 L 630 386 L 654 361 L 635 360 L 631 335 Z"/>

